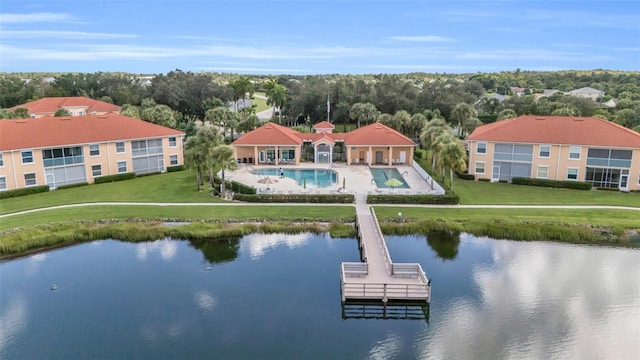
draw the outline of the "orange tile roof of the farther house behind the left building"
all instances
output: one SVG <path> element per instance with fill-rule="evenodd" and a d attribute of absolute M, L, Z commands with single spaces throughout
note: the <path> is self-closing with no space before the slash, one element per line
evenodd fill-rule
<path fill-rule="evenodd" d="M 121 107 L 118 105 L 90 99 L 84 96 L 42 98 L 39 100 L 28 102 L 26 104 L 14 106 L 10 110 L 15 110 L 17 108 L 27 108 L 30 114 L 53 114 L 59 108 L 67 107 L 86 107 L 86 112 L 89 115 L 94 111 L 120 112 L 121 110 Z"/>

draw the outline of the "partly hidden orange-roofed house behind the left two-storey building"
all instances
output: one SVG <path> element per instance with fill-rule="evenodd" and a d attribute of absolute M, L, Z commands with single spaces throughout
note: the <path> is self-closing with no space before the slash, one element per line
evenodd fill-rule
<path fill-rule="evenodd" d="M 90 99 L 84 96 L 47 97 L 28 102 L 26 104 L 14 106 L 9 110 L 15 111 L 18 108 L 26 108 L 27 110 L 29 110 L 31 118 L 53 115 L 56 113 L 56 111 L 58 111 L 58 109 L 65 109 L 71 116 L 119 113 L 122 109 L 118 105 Z"/>

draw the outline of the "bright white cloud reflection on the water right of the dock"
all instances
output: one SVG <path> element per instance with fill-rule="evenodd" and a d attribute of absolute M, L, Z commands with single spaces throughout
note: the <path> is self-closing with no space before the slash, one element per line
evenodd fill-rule
<path fill-rule="evenodd" d="M 479 299 L 451 299 L 423 334 L 425 358 L 640 356 L 640 252 L 484 242 L 493 263 L 471 274 Z"/>

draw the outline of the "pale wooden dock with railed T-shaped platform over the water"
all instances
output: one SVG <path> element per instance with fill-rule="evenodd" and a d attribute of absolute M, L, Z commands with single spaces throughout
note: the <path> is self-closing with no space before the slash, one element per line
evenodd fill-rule
<path fill-rule="evenodd" d="M 343 262 L 340 268 L 342 302 L 431 301 L 431 283 L 418 263 L 391 261 L 373 208 L 356 206 L 358 246 L 362 262 Z"/>

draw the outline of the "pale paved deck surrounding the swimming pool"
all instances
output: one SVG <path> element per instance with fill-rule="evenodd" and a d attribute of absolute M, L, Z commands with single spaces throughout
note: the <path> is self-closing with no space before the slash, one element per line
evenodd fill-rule
<path fill-rule="evenodd" d="M 253 173 L 254 169 L 331 169 L 338 174 L 337 184 L 325 188 L 314 188 L 307 186 L 303 188 L 295 180 L 291 178 L 280 178 L 279 176 L 271 176 L 276 183 L 270 184 L 268 187 L 271 193 L 276 194 L 332 194 L 332 193 L 349 193 L 349 194 L 436 194 L 438 193 L 438 186 L 431 189 L 430 183 L 420 176 L 408 165 L 394 165 L 394 166 L 372 166 L 372 168 L 389 168 L 394 167 L 402 174 L 403 180 L 409 185 L 408 189 L 389 189 L 378 188 L 372 181 L 373 176 L 371 171 L 365 165 L 346 165 L 344 163 L 335 163 L 331 166 L 327 164 L 314 164 L 314 163 L 301 163 L 300 165 L 245 165 L 240 164 L 237 170 L 228 171 L 225 176 L 226 179 L 238 181 L 240 183 L 253 186 L 259 191 L 264 191 L 267 185 L 261 184 L 258 181 L 264 177 L 264 175 L 256 175 Z M 345 188 L 342 189 L 344 181 Z M 435 184 L 437 185 L 437 184 Z"/>

